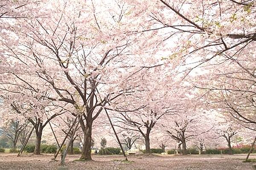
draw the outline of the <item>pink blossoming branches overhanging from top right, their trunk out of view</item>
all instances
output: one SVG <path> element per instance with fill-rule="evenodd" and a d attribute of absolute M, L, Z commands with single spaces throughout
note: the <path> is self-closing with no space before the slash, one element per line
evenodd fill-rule
<path fill-rule="evenodd" d="M 256 40 L 254 0 L 135 0 L 129 3 L 139 8 L 133 11 L 134 16 L 148 16 L 144 21 L 145 31 L 157 30 L 165 44 L 177 42 L 172 46 L 163 45 L 170 53 L 165 58 L 186 60 L 188 71 L 219 56 L 236 60 L 238 55 L 247 55 Z"/>

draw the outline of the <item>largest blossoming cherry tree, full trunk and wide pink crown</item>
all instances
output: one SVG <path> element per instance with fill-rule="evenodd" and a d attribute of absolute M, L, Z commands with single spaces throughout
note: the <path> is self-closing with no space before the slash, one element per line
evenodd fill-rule
<path fill-rule="evenodd" d="M 93 121 L 108 101 L 130 89 L 125 79 L 140 70 L 141 60 L 134 62 L 129 56 L 140 59 L 139 55 L 148 52 L 138 45 L 145 42 L 139 39 L 144 33 L 137 31 L 137 19 L 129 15 L 131 6 L 122 1 L 48 0 L 29 7 L 33 8 L 29 18 L 15 18 L 15 25 L 9 23 L 3 31 L 12 35 L 1 39 L 3 71 L 15 77 L 22 68 L 23 74 L 40 79 L 41 85 L 51 89 L 45 99 L 76 108 L 83 116 L 81 159 L 90 160 Z M 26 88 L 40 91 L 24 77 L 20 79 Z"/>

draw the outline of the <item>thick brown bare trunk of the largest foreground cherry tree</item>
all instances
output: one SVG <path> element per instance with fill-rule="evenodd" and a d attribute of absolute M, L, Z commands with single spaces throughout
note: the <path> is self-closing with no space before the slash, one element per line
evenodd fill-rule
<path fill-rule="evenodd" d="M 84 144 L 81 152 L 80 159 L 90 161 L 91 157 L 91 140 L 92 140 L 92 121 L 87 121 L 84 130 Z"/>

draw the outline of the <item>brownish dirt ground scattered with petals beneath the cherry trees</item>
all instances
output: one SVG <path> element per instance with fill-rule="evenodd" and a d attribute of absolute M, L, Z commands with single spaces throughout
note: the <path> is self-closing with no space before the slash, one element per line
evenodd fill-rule
<path fill-rule="evenodd" d="M 60 158 L 52 161 L 52 154 L 0 153 L 0 170 L 58 170 Z M 239 155 L 157 155 L 128 156 L 129 162 L 122 162 L 121 155 L 93 155 L 93 161 L 79 162 L 79 155 L 67 156 L 68 170 L 253 170 L 253 163 L 244 163 L 245 154 Z M 256 159 L 253 154 L 250 158 Z"/>

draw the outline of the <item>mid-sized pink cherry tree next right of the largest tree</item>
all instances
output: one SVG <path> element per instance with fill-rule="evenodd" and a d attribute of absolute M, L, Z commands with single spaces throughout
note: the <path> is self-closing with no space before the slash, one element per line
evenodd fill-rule
<path fill-rule="evenodd" d="M 175 81 L 175 74 L 163 68 L 164 65 L 157 66 L 136 75 L 134 93 L 111 103 L 112 110 L 117 112 L 116 126 L 141 133 L 145 153 L 150 153 L 151 131 L 166 115 L 176 112 L 179 105 L 176 99 L 184 92 Z"/>

